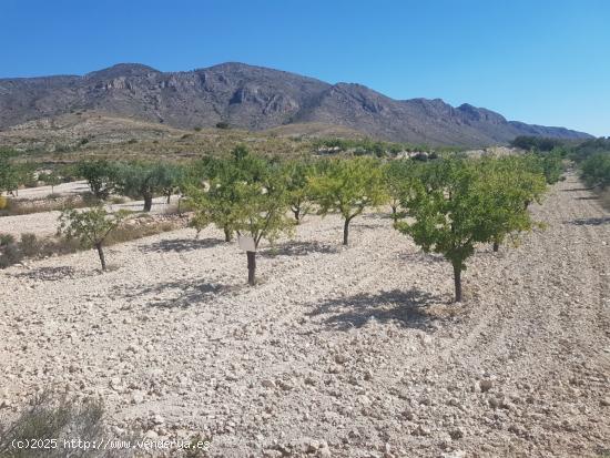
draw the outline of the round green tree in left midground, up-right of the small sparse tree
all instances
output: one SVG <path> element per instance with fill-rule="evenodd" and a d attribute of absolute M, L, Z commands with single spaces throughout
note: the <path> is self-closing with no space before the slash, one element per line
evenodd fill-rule
<path fill-rule="evenodd" d="M 166 193 L 177 182 L 174 167 L 165 163 L 134 161 L 116 165 L 118 190 L 128 197 L 142 199 L 144 212 L 151 211 L 155 195 Z"/>

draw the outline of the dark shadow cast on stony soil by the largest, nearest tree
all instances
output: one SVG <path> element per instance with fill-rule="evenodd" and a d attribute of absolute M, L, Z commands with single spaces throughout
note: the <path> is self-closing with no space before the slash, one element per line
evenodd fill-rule
<path fill-rule="evenodd" d="M 372 318 L 379 323 L 397 322 L 405 327 L 427 329 L 438 318 L 427 314 L 426 307 L 440 302 L 439 296 L 419 289 L 392 289 L 328 299 L 308 315 L 325 315 L 326 325 L 342 330 L 362 327 Z"/>

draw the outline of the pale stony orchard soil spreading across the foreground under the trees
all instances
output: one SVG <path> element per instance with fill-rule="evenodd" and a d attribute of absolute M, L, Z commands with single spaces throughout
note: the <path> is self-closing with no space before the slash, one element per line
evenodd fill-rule
<path fill-rule="evenodd" d="M 449 265 L 389 220 L 309 217 L 258 254 L 182 230 L 0 271 L 0 413 L 101 396 L 120 431 L 222 457 L 610 454 L 610 215 L 573 179 L 547 228 Z"/>

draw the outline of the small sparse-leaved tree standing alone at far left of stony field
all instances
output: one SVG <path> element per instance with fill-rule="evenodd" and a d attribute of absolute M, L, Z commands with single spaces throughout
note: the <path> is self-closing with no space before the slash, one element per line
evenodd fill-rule
<path fill-rule="evenodd" d="M 68 238 L 77 238 L 84 247 L 95 248 L 102 271 L 105 271 L 103 244 L 126 215 L 128 212 L 109 213 L 101 205 L 85 211 L 64 210 L 59 217 L 58 233 Z"/>

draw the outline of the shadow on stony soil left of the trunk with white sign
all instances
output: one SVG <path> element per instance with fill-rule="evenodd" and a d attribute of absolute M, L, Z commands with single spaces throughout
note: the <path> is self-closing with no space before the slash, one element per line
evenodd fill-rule
<path fill-rule="evenodd" d="M 140 296 L 152 296 L 146 304 L 149 307 L 186 308 L 209 303 L 240 288 L 241 286 L 222 285 L 220 283 L 165 282 L 135 292 L 130 292 L 123 297 L 134 298 Z M 177 294 L 175 294 L 174 297 L 159 297 L 162 294 L 167 294 L 169 291 L 175 291 Z"/>

